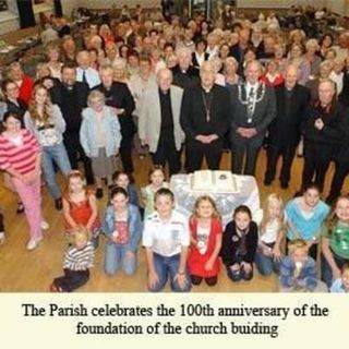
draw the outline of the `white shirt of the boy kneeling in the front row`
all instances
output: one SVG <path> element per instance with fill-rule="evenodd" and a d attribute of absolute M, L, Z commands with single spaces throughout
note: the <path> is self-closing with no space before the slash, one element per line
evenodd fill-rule
<path fill-rule="evenodd" d="M 182 246 L 190 244 L 189 220 L 185 216 L 172 212 L 168 221 L 163 221 L 157 212 L 144 221 L 143 245 L 153 252 L 170 257 L 179 254 Z"/>

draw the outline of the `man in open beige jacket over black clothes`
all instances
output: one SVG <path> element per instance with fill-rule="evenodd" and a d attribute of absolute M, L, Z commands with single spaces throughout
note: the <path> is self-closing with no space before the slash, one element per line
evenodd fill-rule
<path fill-rule="evenodd" d="M 168 163 L 170 174 L 181 170 L 180 149 L 184 133 L 179 118 L 183 89 L 172 85 L 172 72 L 160 69 L 157 85 L 146 91 L 141 100 L 139 134 L 148 145 L 154 165 Z"/>

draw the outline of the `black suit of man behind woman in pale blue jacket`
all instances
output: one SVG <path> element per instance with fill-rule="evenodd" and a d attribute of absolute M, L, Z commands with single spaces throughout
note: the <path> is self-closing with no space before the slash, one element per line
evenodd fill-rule
<path fill-rule="evenodd" d="M 103 84 L 95 88 L 106 96 L 107 106 L 124 109 L 124 112 L 118 116 L 122 135 L 120 157 L 124 171 L 132 173 L 134 170 L 132 161 L 132 144 L 136 128 L 132 119 L 132 112 L 135 108 L 135 104 L 131 92 L 127 84 L 120 82 L 113 82 L 109 89 L 107 89 Z"/>

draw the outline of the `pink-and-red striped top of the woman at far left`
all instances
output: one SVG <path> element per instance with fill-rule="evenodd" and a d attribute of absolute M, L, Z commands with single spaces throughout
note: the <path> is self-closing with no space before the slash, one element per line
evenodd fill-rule
<path fill-rule="evenodd" d="M 0 135 L 0 169 L 14 169 L 21 174 L 35 170 L 40 146 L 33 133 L 21 130 L 22 144 L 15 145 L 3 133 Z"/>

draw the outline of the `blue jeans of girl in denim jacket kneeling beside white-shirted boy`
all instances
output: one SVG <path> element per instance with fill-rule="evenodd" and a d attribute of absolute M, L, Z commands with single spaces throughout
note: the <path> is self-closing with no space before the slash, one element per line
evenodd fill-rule
<path fill-rule="evenodd" d="M 137 267 L 136 252 L 133 256 L 127 255 L 127 250 L 121 244 L 116 244 L 111 241 L 106 243 L 106 254 L 105 254 L 105 272 L 108 275 L 113 275 L 118 269 L 122 268 L 128 275 L 135 273 Z"/>

